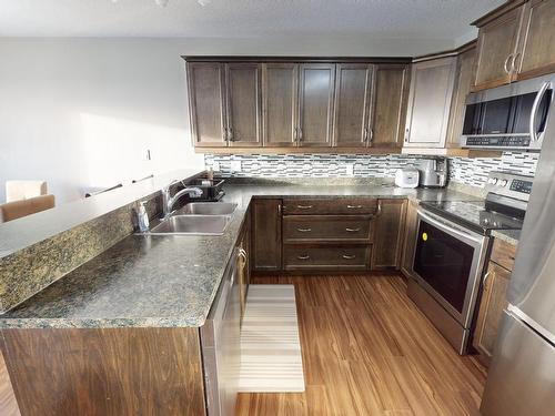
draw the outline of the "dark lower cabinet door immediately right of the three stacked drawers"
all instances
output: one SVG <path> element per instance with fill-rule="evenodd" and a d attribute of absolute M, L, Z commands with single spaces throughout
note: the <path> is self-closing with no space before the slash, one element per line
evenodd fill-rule
<path fill-rule="evenodd" d="M 406 200 L 380 200 L 379 204 L 379 214 L 374 220 L 372 268 L 398 270 L 405 231 Z"/>

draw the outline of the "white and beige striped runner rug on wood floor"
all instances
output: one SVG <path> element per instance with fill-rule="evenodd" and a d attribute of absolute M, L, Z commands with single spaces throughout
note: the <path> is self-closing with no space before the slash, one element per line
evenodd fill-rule
<path fill-rule="evenodd" d="M 293 285 L 250 285 L 241 329 L 240 392 L 304 392 Z"/>

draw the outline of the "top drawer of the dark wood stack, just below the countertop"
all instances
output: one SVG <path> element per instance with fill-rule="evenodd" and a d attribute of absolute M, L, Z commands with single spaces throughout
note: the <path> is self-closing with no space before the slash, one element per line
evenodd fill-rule
<path fill-rule="evenodd" d="M 375 214 L 377 200 L 367 197 L 299 199 L 284 200 L 283 213 L 295 215 L 314 214 Z"/>

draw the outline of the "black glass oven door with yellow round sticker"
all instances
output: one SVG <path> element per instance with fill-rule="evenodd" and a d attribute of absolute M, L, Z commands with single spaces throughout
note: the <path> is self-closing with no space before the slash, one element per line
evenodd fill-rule
<path fill-rule="evenodd" d="M 488 237 L 418 210 L 413 273 L 463 327 L 470 328 Z"/>

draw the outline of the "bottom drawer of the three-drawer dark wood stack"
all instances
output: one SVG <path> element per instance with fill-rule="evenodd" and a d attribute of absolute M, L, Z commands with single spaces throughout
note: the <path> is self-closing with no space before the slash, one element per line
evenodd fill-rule
<path fill-rule="evenodd" d="M 284 245 L 283 266 L 285 270 L 367 270 L 371 246 L 299 246 Z"/>

